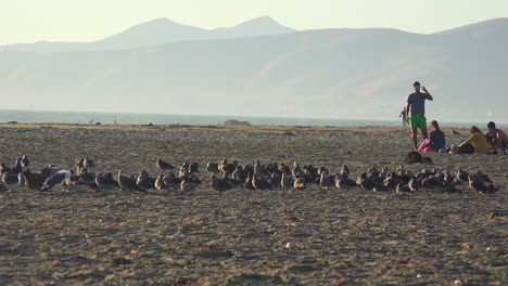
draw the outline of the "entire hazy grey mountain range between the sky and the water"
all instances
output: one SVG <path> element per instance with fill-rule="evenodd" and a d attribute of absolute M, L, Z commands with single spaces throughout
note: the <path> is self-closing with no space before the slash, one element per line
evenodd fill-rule
<path fill-rule="evenodd" d="M 0 47 L 0 108 L 396 119 L 420 80 L 432 119 L 508 122 L 506 51 L 508 18 L 433 35 L 154 20 L 91 43 Z"/>

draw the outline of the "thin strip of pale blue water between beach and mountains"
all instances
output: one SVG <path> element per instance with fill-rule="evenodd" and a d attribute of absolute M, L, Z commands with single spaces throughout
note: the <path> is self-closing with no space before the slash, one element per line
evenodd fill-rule
<path fill-rule="evenodd" d="M 236 119 L 252 125 L 272 126 L 402 126 L 394 120 L 357 120 L 335 118 L 296 118 L 296 117 L 253 117 L 217 115 L 170 115 L 170 114 L 129 114 L 129 113 L 88 113 L 88 112 L 39 112 L 39 110 L 0 110 L 0 122 L 45 122 L 45 123 L 96 123 L 103 125 L 218 125 Z M 442 122 L 441 126 L 470 127 L 466 122 Z M 479 125 L 483 126 L 483 125 Z"/>

